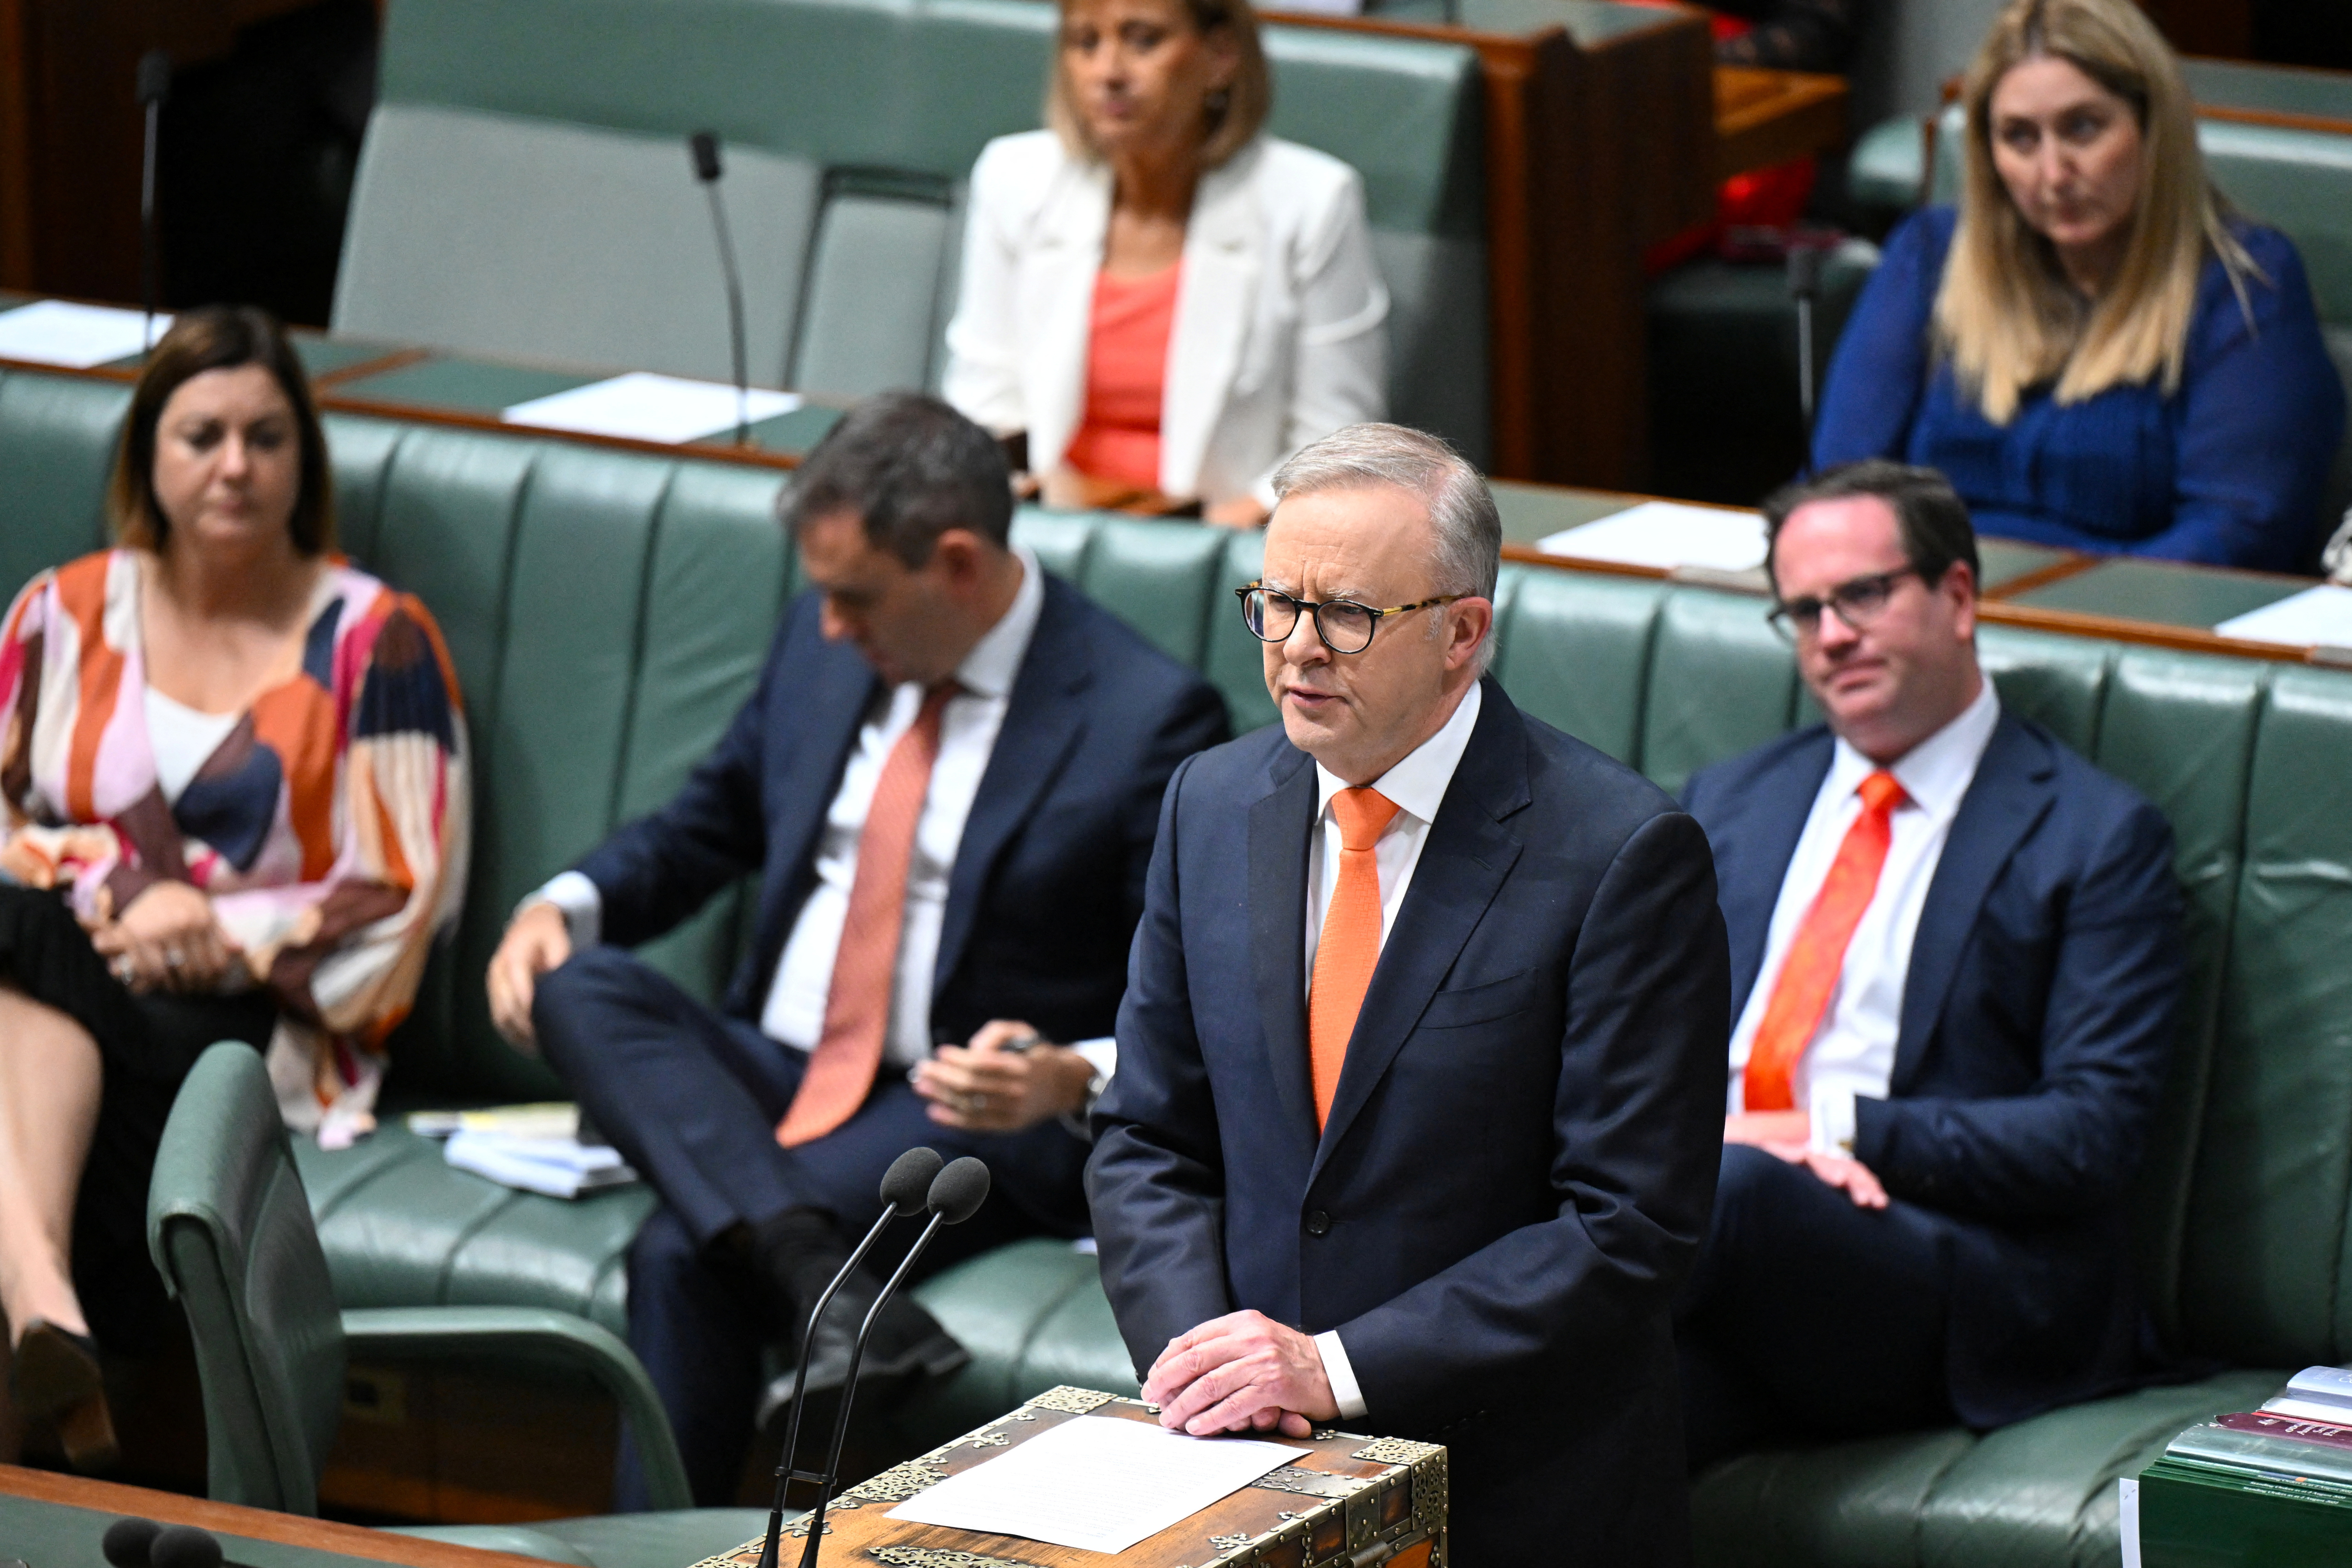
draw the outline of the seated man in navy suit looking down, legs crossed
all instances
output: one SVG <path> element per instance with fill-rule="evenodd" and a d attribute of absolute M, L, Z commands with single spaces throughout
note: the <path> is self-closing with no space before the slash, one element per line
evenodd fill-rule
<path fill-rule="evenodd" d="M 499 1027 L 661 1194 L 628 1338 L 706 1505 L 734 1500 L 755 1413 L 771 1432 L 790 1413 L 790 1375 L 760 1396 L 762 1342 L 807 1359 L 804 1441 L 828 1432 L 915 1227 L 800 1328 L 903 1150 L 995 1175 L 931 1269 L 1084 1232 L 1080 1117 L 1115 1072 L 1160 795 L 1228 733 L 1207 682 L 1011 543 L 1004 454 L 948 404 L 849 411 L 786 508 L 809 592 L 760 686 L 666 806 L 522 903 L 489 966 Z M 628 952 L 746 879 L 750 945 L 717 1009 Z M 863 1385 L 882 1403 L 967 1359 L 896 1295 Z"/>

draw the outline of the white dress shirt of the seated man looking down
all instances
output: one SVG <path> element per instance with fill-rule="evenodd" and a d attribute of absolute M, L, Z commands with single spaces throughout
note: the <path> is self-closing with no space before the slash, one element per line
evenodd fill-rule
<path fill-rule="evenodd" d="M 964 820 L 1004 729 L 1004 708 L 1014 677 L 1028 656 L 1037 616 L 1044 611 L 1044 576 L 1037 557 L 1014 545 L 1021 562 L 1021 588 L 1011 609 L 971 644 L 955 668 L 962 691 L 948 698 L 938 715 L 938 759 L 931 764 L 931 788 L 915 823 L 915 851 L 906 872 L 906 914 L 898 926 L 898 966 L 891 976 L 889 1027 L 882 1034 L 882 1058 L 894 1067 L 913 1067 L 931 1056 L 931 971 L 938 966 L 938 931 L 948 914 L 948 877 L 964 837 Z M 800 1051 L 814 1051 L 826 1032 L 826 994 L 833 990 L 833 954 L 842 945 L 849 919 L 849 884 L 858 872 L 858 835 L 873 806 L 882 764 L 922 710 L 922 686 L 891 686 L 858 726 L 856 748 L 842 769 L 842 785 L 826 811 L 816 844 L 816 889 L 800 905 L 783 957 L 760 1009 L 760 1032 Z M 564 912 L 574 947 L 597 940 L 602 896 L 581 872 L 562 872 L 532 893 Z M 529 900 L 524 900 L 529 903 Z M 1096 1091 L 1115 1065 L 1108 1039 L 1073 1046 L 1096 1070 Z"/>

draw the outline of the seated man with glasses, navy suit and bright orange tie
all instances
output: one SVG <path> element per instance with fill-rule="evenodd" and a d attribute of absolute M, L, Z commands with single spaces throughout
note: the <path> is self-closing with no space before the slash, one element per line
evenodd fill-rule
<path fill-rule="evenodd" d="M 1828 724 L 1684 792 L 1738 1020 L 1677 1307 L 1693 1469 L 2131 1382 L 2124 1197 L 2183 985 L 2171 827 L 2002 710 L 1943 475 L 1853 463 L 1764 517 Z"/>

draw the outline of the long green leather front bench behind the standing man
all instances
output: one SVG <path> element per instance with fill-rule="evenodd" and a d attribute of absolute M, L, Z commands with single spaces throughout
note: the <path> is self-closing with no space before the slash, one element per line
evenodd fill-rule
<path fill-rule="evenodd" d="M 125 390 L 0 374 L 0 567 L 99 538 Z M 510 905 L 616 820 L 666 797 L 753 679 L 793 583 L 779 475 L 517 435 L 336 418 L 346 541 L 426 597 L 468 693 L 475 886 L 395 1041 L 407 1103 L 557 1093 L 485 1016 L 482 964 Z M 1258 538 L 1190 524 L 1028 512 L 1049 569 L 1200 661 L 1240 726 L 1270 717 L 1230 585 Z M 1691 769 L 1809 717 L 1752 597 L 1508 569 L 1496 672 L 1515 701 L 1677 788 Z M 1708 1563 L 2114 1561 L 2117 1474 L 2192 1420 L 2244 1408 L 2284 1371 L 2352 1356 L 2352 672 L 1987 628 L 2004 701 L 2147 792 L 2173 820 L 2192 987 L 2143 1173 L 2147 1300 L 2194 1356 L 2256 1368 L 2023 1422 L 1738 1460 L 1698 1490 Z M 654 959 L 715 985 L 729 907 Z M 557 1204 L 437 1164 L 388 1126 L 303 1152 L 343 1307 L 546 1305 L 621 1324 L 621 1253 L 642 1192 Z M 922 1298 L 974 1349 L 908 1443 L 969 1429 L 1054 1382 L 1131 1387 L 1094 1260 L 1033 1241 Z M 1124 1368 L 1124 1378 L 1122 1378 Z"/>

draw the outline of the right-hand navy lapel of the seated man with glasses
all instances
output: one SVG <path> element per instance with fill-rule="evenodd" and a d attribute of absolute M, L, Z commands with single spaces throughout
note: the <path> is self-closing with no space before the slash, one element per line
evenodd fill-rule
<path fill-rule="evenodd" d="M 1952 990 L 1952 973 L 1985 907 L 1985 893 L 1992 891 L 2016 846 L 2051 809 L 2053 771 L 2049 743 L 2016 715 L 2004 712 L 1959 802 L 1952 832 L 1936 860 L 1936 879 L 1926 889 L 1926 907 L 1919 910 L 1919 931 L 1912 936 L 1910 969 L 1903 976 L 1893 1093 L 1903 1093 L 1919 1074 L 1929 1034 L 1943 1013 L 1945 992 Z"/>

